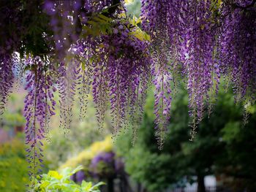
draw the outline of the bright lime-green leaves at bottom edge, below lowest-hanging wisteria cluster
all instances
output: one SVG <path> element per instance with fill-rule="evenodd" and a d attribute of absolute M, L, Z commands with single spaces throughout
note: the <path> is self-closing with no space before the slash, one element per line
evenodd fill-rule
<path fill-rule="evenodd" d="M 35 185 L 35 191 L 83 191 L 83 192 L 99 192 L 99 186 L 104 185 L 105 183 L 97 183 L 92 185 L 91 182 L 86 182 L 83 180 L 81 185 L 73 182 L 70 177 L 72 174 L 83 169 L 82 166 L 78 166 L 75 169 L 65 168 L 61 172 L 49 171 L 48 174 L 42 174 L 42 180 L 37 181 Z"/>

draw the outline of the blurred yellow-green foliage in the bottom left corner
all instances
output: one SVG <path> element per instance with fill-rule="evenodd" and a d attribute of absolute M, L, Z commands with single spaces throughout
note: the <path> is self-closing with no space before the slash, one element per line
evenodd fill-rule
<path fill-rule="evenodd" d="M 25 145 L 12 139 L 0 145 L 0 191 L 25 191 L 29 183 Z"/>

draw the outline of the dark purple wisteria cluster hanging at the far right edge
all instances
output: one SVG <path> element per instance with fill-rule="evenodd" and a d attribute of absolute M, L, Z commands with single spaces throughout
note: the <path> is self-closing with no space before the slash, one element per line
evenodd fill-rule
<path fill-rule="evenodd" d="M 223 74 L 233 82 L 236 101 L 254 103 L 256 99 L 256 14 L 246 9 L 250 2 L 222 8 L 225 18 L 221 27 L 220 65 Z"/>

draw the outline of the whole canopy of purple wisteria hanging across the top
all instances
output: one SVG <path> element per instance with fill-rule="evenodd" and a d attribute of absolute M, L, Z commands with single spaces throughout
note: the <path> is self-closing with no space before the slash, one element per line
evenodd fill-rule
<path fill-rule="evenodd" d="M 25 70 L 20 74 L 26 74 L 28 91 L 24 116 L 31 185 L 42 166 L 42 141 L 49 138 L 56 91 L 60 126 L 65 132 L 72 122 L 75 94 L 81 120 L 91 94 L 99 128 L 109 110 L 113 135 L 131 123 L 136 138 L 152 82 L 159 148 L 181 79 L 187 82 L 191 139 L 205 111 L 212 110 L 221 77 L 232 85 L 236 101 L 245 106 L 255 104 L 255 0 L 142 0 L 138 23 L 127 17 L 124 2 L 119 0 L 45 0 L 40 6 L 52 31 L 40 34 L 47 48 L 41 54 L 35 51 L 35 55 L 30 51 L 37 43 L 26 47 L 27 37 L 18 35 L 26 28 L 18 17 L 23 9 L 1 9 L 2 18 L 9 15 L 18 29 L 13 34 L 1 31 L 0 115 L 15 82 L 14 68 L 23 64 Z M 11 26 L 6 20 L 0 24 L 2 28 Z M 17 52 L 22 53 L 20 58 Z"/>

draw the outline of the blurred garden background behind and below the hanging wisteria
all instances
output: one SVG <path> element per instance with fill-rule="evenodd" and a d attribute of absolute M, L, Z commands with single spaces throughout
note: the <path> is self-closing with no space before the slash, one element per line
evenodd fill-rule
<path fill-rule="evenodd" d="M 138 17 L 140 1 L 129 4 L 127 9 L 129 15 Z M 103 181 L 103 192 L 256 191 L 256 107 L 245 112 L 235 103 L 231 88 L 221 86 L 212 112 L 205 115 L 190 142 L 187 93 L 184 85 L 176 89 L 162 150 L 154 137 L 153 89 L 148 91 L 143 123 L 134 145 L 129 125 L 111 139 L 108 115 L 104 129 L 97 128 L 90 96 L 83 122 L 76 101 L 68 135 L 59 128 L 57 110 L 44 145 L 44 172 L 82 165 L 83 170 L 73 174 L 72 180 Z M 26 91 L 15 87 L 12 92 L 0 124 L 2 192 L 25 191 L 28 183 L 22 111 Z"/>

